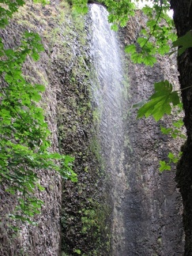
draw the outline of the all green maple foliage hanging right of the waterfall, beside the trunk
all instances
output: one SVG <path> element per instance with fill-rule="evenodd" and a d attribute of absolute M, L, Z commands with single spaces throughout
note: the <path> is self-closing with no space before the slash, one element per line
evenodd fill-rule
<path fill-rule="evenodd" d="M 116 1 L 115 1 L 116 2 Z M 126 2 L 126 1 L 122 1 Z M 137 0 L 137 2 L 139 2 Z M 134 6 L 132 6 L 134 8 Z M 174 31 L 174 24 L 171 17 L 168 16 L 170 3 L 167 0 L 153 1 L 152 7 L 145 6 L 142 11 L 147 16 L 146 28 L 141 29 L 141 35 L 138 36 L 135 43 L 126 46 L 126 53 L 130 54 L 130 58 L 134 63 L 144 63 L 153 66 L 156 62 L 156 54 L 168 54 L 172 47 L 179 47 L 179 55 L 183 54 L 187 48 L 192 47 L 192 34 L 187 32 L 185 36 L 177 39 Z M 122 14 L 116 13 L 116 20 Z M 114 20 L 112 21 L 114 22 Z M 120 25 L 124 25 L 121 24 Z M 182 109 L 179 93 L 172 91 L 172 85 L 169 81 L 160 81 L 154 85 L 155 92 L 150 96 L 149 100 L 136 104 L 134 107 L 140 107 L 137 112 L 137 118 L 149 117 L 152 115 L 156 121 L 164 117 L 164 114 L 171 115 L 172 107 Z M 140 106 L 139 106 L 140 105 Z M 173 122 L 173 127 L 166 129 L 161 127 L 164 134 L 170 134 L 171 137 L 185 138 L 182 131 L 183 121 Z M 160 171 L 171 170 L 171 164 L 179 161 L 182 152 L 178 156 L 174 156 L 172 152 L 168 154 L 168 163 L 160 160 Z"/>

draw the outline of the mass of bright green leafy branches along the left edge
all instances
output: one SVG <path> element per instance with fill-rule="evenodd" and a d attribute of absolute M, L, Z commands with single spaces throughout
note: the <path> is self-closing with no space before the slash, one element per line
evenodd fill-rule
<path fill-rule="evenodd" d="M 6 11 L 0 8 L 4 13 L 1 27 L 5 27 L 24 2 L 2 2 L 9 7 Z M 0 39 L 0 183 L 17 197 L 17 207 L 10 216 L 29 223 L 33 223 L 31 217 L 40 213 L 43 204 L 35 196 L 37 189 L 44 190 L 39 181 L 40 169 L 59 171 L 64 179 L 77 181 L 71 169 L 73 158 L 49 149 L 51 132 L 39 104 L 44 86 L 29 83 L 22 74 L 26 58 L 37 61 L 41 51 L 40 36 L 33 32 L 24 32 L 21 44 L 14 49 L 6 49 Z"/>

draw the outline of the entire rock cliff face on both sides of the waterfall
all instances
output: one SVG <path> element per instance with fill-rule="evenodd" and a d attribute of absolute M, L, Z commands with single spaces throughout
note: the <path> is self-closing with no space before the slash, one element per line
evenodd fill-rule
<path fill-rule="evenodd" d="M 122 31 L 121 47 L 137 38 L 140 18 L 139 14 Z M 111 175 L 101 153 L 108 145 L 100 141 L 102 123 L 92 100 L 90 23 L 86 19 L 72 13 L 64 0 L 47 6 L 29 2 L 1 32 L 6 47 L 17 45 L 26 29 L 40 34 L 45 51 L 39 62 L 28 59 L 24 74 L 46 86 L 41 105 L 52 132 L 51 150 L 75 156 L 78 183 L 63 182 L 54 171 L 41 170 L 45 190 L 37 196 L 45 204 L 36 216 L 38 225 L 21 224 L 21 232 L 15 234 L 6 218 L 14 198 L 2 187 L 0 254 L 181 255 L 182 206 L 175 172 L 160 175 L 157 170 L 159 158 L 174 148 L 173 142 L 160 134 L 160 124 L 152 119 L 136 121 L 131 108 L 150 95 L 154 81 L 177 77 L 175 62 L 159 58 L 156 66 L 146 68 L 126 58 L 129 86 L 123 100 L 123 175 Z M 122 186 L 117 194 L 114 180 Z M 120 222 L 115 216 L 120 216 Z"/>

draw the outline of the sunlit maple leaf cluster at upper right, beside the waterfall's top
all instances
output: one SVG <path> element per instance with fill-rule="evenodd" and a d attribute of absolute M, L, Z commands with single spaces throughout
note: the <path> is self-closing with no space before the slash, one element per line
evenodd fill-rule
<path fill-rule="evenodd" d="M 141 29 L 141 35 L 136 43 L 126 47 L 126 53 L 134 63 L 144 63 L 153 66 L 156 54 L 165 55 L 170 51 L 170 41 L 176 40 L 173 30 L 173 20 L 168 16 L 170 8 L 168 1 L 155 2 L 154 6 L 145 6 L 142 11 L 148 18 L 146 28 Z"/>

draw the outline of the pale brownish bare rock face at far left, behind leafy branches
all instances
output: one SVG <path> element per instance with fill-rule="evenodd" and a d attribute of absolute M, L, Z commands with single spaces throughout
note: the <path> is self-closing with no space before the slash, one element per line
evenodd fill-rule
<path fill-rule="evenodd" d="M 45 51 L 41 55 L 40 62 L 28 59 L 24 66 L 24 75 L 31 77 L 32 82 L 46 85 L 43 93 L 42 106 L 45 109 L 47 122 L 51 130 L 51 151 L 58 151 L 57 134 L 57 108 L 56 92 L 59 85 L 54 81 L 55 75 L 51 71 L 51 49 L 53 41 L 49 33 L 51 26 L 58 21 L 56 6 L 28 5 L 20 9 L 6 30 L 2 30 L 1 36 L 6 47 L 15 47 L 20 43 L 22 33 L 25 30 L 38 32 L 43 36 Z M 52 40 L 55 40 L 52 37 Z M 1 194 L 1 255 L 57 255 L 60 243 L 60 211 L 62 203 L 62 180 L 55 171 L 38 172 L 40 183 L 45 190 L 37 196 L 44 201 L 42 213 L 36 216 L 37 226 L 21 224 L 21 232 L 12 232 L 9 228 L 7 214 L 12 213 L 14 197 L 5 191 Z"/>

